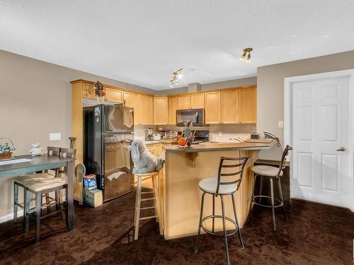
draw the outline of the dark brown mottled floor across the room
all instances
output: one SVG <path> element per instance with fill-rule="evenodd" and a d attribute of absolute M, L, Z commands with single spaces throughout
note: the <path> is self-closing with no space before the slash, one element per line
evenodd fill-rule
<path fill-rule="evenodd" d="M 21 222 L 0 224 L 0 264 L 225 264 L 220 238 L 202 236 L 165 241 L 158 225 L 142 225 L 132 240 L 134 193 L 99 208 L 76 206 L 76 228 L 67 232 L 64 220 L 43 221 L 42 237 L 34 243 L 34 223 L 23 235 Z M 242 230 L 245 249 L 229 238 L 232 264 L 353 264 L 354 213 L 343 208 L 292 201 L 285 223 L 271 228 L 268 209 L 255 208 Z"/>

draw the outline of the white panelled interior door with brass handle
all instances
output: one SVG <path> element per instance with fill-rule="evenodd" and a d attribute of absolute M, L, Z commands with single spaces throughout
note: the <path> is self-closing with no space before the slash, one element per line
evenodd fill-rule
<path fill-rule="evenodd" d="M 348 77 L 292 83 L 292 197 L 351 207 L 348 86 Z"/>

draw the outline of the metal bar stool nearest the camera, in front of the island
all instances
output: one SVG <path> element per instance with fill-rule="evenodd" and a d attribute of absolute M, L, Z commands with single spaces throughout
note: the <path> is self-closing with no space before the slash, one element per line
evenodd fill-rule
<path fill-rule="evenodd" d="M 199 182 L 199 188 L 202 190 L 202 205 L 200 207 L 200 219 L 199 219 L 199 227 L 198 227 L 198 235 L 197 235 L 197 243 L 195 244 L 195 253 L 198 252 L 199 245 L 200 245 L 200 229 L 204 230 L 207 232 L 209 235 L 213 235 L 215 237 L 224 237 L 224 243 L 225 243 L 225 254 L 226 254 L 226 259 L 227 259 L 227 264 L 230 264 L 229 261 L 229 249 L 227 247 L 227 237 L 236 234 L 236 232 L 239 234 L 239 240 L 241 242 L 241 247 L 244 248 L 244 241 L 242 240 L 241 237 L 241 231 L 239 230 L 239 223 L 237 221 L 237 215 L 236 215 L 236 202 L 235 202 L 235 193 L 239 189 L 241 185 L 241 180 L 242 176 L 244 174 L 244 167 L 246 165 L 247 160 L 249 159 L 249 155 L 243 157 L 243 158 L 220 158 L 220 163 L 219 163 L 219 171 L 217 177 L 210 177 L 207 179 L 203 179 L 202 181 Z M 232 161 L 232 164 L 227 164 L 225 162 Z M 234 164 L 236 162 L 236 164 Z M 227 172 L 223 173 L 224 168 L 237 168 L 237 172 Z M 229 177 L 229 176 L 239 176 L 238 179 L 236 180 L 226 180 L 224 177 Z M 211 216 L 205 216 L 204 218 L 202 217 L 203 213 L 203 206 L 204 206 L 204 196 L 205 194 L 211 194 L 212 195 L 212 215 Z M 229 218 L 225 216 L 225 209 L 224 209 L 224 196 L 231 195 L 232 196 L 232 204 L 234 207 L 234 216 L 235 220 L 232 220 L 232 218 Z M 215 215 L 215 197 L 220 196 L 221 200 L 221 205 L 222 205 L 222 215 Z M 222 226 L 223 226 L 223 231 L 222 234 L 217 234 L 215 232 L 215 218 L 220 218 L 222 219 Z M 205 220 L 212 219 L 212 230 L 210 231 L 209 229 L 205 228 L 203 225 Z M 225 220 L 228 220 L 230 223 L 235 225 L 235 230 L 232 232 L 227 232 L 226 230 L 226 224 Z"/>

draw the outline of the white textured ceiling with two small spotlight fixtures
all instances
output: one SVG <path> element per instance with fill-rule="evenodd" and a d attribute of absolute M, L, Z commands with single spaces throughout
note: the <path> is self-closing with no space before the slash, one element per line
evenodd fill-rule
<path fill-rule="evenodd" d="M 1 0 L 0 49 L 161 90 L 354 49 L 354 1 Z"/>

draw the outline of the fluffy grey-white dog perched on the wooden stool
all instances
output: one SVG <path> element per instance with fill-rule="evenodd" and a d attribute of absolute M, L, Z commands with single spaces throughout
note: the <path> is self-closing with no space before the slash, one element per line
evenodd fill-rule
<path fill-rule="evenodd" d="M 132 170 L 133 174 L 144 174 L 161 170 L 163 161 L 161 158 L 156 158 L 152 153 L 147 151 L 144 141 L 135 140 L 130 144 L 130 153 L 135 166 Z"/>

